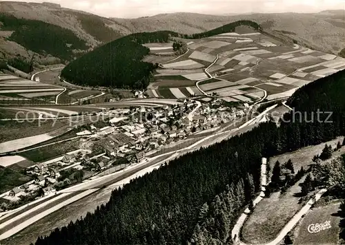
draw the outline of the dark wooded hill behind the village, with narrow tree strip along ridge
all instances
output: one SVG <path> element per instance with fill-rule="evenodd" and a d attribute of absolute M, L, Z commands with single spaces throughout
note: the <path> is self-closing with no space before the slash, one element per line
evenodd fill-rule
<path fill-rule="evenodd" d="M 126 89 L 146 88 L 152 79 L 151 73 L 155 66 L 141 61 L 150 51 L 141 44 L 167 43 L 173 36 L 199 39 L 224 32 L 233 32 L 239 25 L 249 25 L 259 30 L 259 25 L 253 21 L 236 21 L 192 36 L 169 31 L 130 34 L 72 61 L 62 70 L 61 75 L 68 82 L 77 85 Z"/>

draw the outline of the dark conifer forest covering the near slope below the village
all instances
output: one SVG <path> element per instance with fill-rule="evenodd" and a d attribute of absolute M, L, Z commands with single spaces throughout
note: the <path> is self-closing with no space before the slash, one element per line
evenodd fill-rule
<path fill-rule="evenodd" d="M 345 71 L 302 87 L 289 100 L 295 110 L 306 111 L 300 120 L 292 120 L 290 112 L 279 127 L 264 122 L 173 160 L 113 191 L 95 214 L 57 228 L 36 244 L 231 244 L 235 220 L 259 191 L 262 156 L 345 134 L 344 89 Z M 334 111 L 328 119 L 333 122 L 311 121 L 316 109 Z"/>

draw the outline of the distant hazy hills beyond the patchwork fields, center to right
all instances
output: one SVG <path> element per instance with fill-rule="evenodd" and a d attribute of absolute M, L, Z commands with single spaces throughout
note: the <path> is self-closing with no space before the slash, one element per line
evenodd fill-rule
<path fill-rule="evenodd" d="M 343 11 L 344 12 L 344 11 Z M 113 19 L 132 32 L 172 30 L 180 33 L 197 33 L 218 28 L 226 23 L 248 19 L 263 28 L 283 31 L 284 34 L 302 41 L 304 45 L 323 52 L 337 54 L 344 48 L 345 18 L 342 10 L 317 14 L 240 14 L 216 16 L 194 13 L 159 14 L 140 19 Z"/>

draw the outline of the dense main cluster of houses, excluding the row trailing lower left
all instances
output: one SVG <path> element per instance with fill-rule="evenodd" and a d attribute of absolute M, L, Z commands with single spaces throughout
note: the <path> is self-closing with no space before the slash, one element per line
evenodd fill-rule
<path fill-rule="evenodd" d="M 109 126 L 95 131 L 97 138 L 93 140 L 97 140 L 95 145 L 107 156 L 140 162 L 149 151 L 244 116 L 248 108 L 248 105 L 224 107 L 221 100 L 210 103 L 185 100 L 181 105 L 170 107 L 138 108 L 137 115 L 132 118 L 131 111 L 126 109 L 121 111 L 121 116 L 110 120 Z M 121 121 L 123 119 L 127 121 Z"/>

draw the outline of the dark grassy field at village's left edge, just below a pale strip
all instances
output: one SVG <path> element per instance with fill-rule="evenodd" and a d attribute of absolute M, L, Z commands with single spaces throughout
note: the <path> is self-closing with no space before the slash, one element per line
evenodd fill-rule
<path fill-rule="evenodd" d="M 32 160 L 33 162 L 43 162 L 45 160 L 57 158 L 68 151 L 74 151 L 76 149 L 79 149 L 79 139 L 33 149 L 31 151 L 24 151 L 19 153 L 19 156 Z"/>

